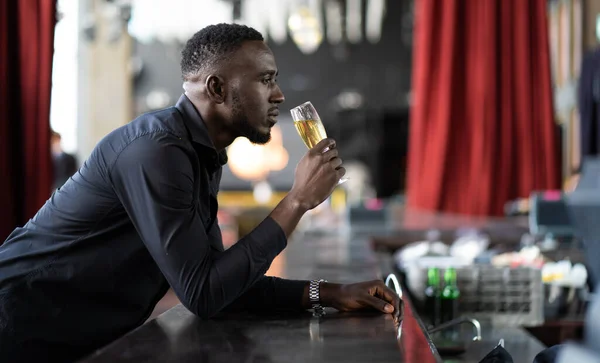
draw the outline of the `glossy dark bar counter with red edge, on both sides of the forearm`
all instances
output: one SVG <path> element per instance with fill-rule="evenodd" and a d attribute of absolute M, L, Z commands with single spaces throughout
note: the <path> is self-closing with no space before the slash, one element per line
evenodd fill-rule
<path fill-rule="evenodd" d="M 341 283 L 384 279 L 378 261 L 366 238 L 297 236 L 268 274 Z M 333 309 L 322 317 L 306 311 L 201 320 L 177 305 L 82 362 L 442 362 L 410 302 L 403 305 L 399 326 L 391 315 Z M 483 342 L 473 343 L 475 350 L 454 361 L 478 362 L 494 348 L 497 334 L 483 328 L 494 341 L 484 335 Z M 498 332 L 505 339 L 518 337 L 515 347 L 507 346 L 515 361 L 531 362 L 543 345 L 522 329 L 512 330 Z M 520 357 L 511 348 L 526 354 Z"/>

